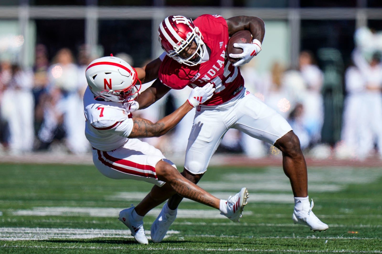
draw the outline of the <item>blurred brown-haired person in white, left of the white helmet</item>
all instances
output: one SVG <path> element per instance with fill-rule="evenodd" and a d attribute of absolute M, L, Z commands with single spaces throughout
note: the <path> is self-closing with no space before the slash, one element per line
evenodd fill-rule
<path fill-rule="evenodd" d="M 88 149 L 88 142 L 81 131 L 83 115 L 79 113 L 82 100 L 78 80 L 78 66 L 74 64 L 73 54 L 68 48 L 62 48 L 49 67 L 50 103 L 46 104 L 44 110 L 39 139 L 50 144 L 62 118 L 66 147 L 72 153 L 84 153 Z"/>

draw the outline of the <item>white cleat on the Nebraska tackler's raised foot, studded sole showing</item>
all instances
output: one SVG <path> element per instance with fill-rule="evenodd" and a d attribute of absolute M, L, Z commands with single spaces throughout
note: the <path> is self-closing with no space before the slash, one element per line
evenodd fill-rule
<path fill-rule="evenodd" d="M 227 200 L 227 214 L 223 214 L 233 222 L 239 222 L 242 217 L 241 213 L 244 210 L 244 206 L 247 204 L 247 198 L 249 196 L 247 188 L 242 188 L 235 196 L 230 196 Z"/>

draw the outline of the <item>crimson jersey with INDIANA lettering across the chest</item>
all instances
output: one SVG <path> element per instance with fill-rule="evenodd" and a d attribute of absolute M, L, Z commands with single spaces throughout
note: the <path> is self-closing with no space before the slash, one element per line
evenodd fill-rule
<path fill-rule="evenodd" d="M 222 16 L 204 14 L 194 20 L 203 42 L 210 48 L 209 60 L 196 66 L 180 64 L 165 56 L 159 68 L 159 80 L 172 89 L 186 86 L 195 88 L 213 83 L 216 88 L 211 99 L 203 105 L 219 105 L 235 97 L 244 87 L 238 67 L 232 66 L 225 56 L 228 43 L 228 26 Z"/>

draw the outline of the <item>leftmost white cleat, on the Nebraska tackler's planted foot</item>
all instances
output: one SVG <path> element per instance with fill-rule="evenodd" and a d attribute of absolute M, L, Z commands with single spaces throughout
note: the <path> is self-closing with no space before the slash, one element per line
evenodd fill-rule
<path fill-rule="evenodd" d="M 123 222 L 131 231 L 131 235 L 134 236 L 135 240 L 142 244 L 148 244 L 149 241 L 144 233 L 143 220 L 136 221 L 133 219 L 131 212 L 134 210 L 134 206 L 128 209 L 123 209 L 120 211 L 118 220 Z"/>

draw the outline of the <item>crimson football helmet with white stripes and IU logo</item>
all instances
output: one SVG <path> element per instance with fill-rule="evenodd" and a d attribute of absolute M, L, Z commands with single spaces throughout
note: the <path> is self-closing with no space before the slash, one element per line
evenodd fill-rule
<path fill-rule="evenodd" d="M 191 19 L 185 16 L 168 16 L 159 25 L 158 40 L 167 56 L 181 64 L 194 66 L 200 64 L 206 52 L 202 34 Z M 179 53 L 190 43 L 195 42 L 196 51 L 190 57 L 184 59 Z M 194 56 L 196 55 L 196 58 Z"/>

